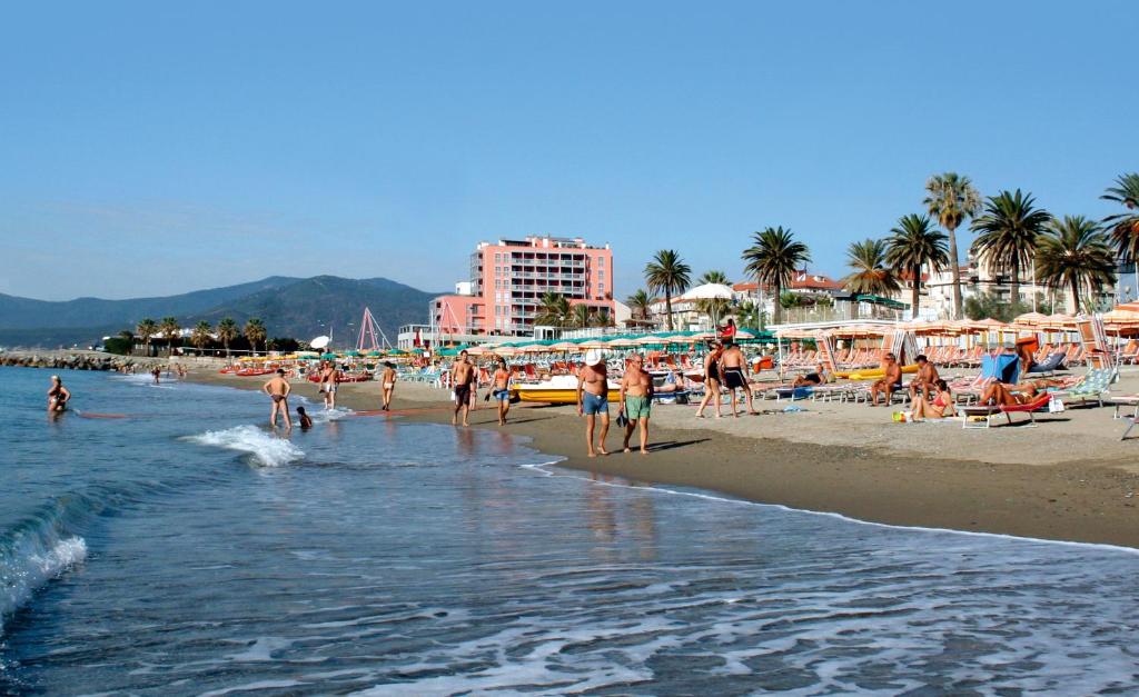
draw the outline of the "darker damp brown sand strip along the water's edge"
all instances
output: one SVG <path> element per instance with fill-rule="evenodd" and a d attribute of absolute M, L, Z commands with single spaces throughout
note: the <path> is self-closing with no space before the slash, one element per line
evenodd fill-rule
<path fill-rule="evenodd" d="M 243 390 L 259 390 L 263 382 L 206 369 L 191 369 L 188 379 Z M 294 392 L 320 401 L 314 384 L 294 382 Z M 360 418 L 449 425 L 452 403 L 448 396 L 423 384 L 400 383 L 394 411 L 387 416 L 375 413 L 377 383 L 344 384 L 337 404 L 369 412 Z M 498 430 L 493 404 L 482 397 L 481 408 L 470 413 L 470 427 Z M 754 428 L 745 432 L 749 425 L 794 417 L 724 418 L 713 424 L 713 419 L 698 421 L 690 412 L 670 413 L 669 409 L 654 411 L 654 418 L 657 413 L 662 418 L 654 423 L 653 452 L 647 457 L 620 452 L 615 423 L 607 444 L 617 452 L 585 457 L 583 425 L 571 407 L 516 404 L 506 432 L 527 438 L 544 454 L 564 458 L 559 467 L 595 477 L 698 489 L 867 523 L 1139 548 L 1133 495 L 1139 473 L 1130 464 L 1103 459 L 994 462 L 959 453 L 915 456 L 904 448 L 887 451 L 874 444 L 756 437 Z M 678 420 L 680 416 L 687 419 Z"/>

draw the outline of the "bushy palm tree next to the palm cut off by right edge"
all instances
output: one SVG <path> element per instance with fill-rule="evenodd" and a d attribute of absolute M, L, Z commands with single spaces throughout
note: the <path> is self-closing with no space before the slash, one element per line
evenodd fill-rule
<path fill-rule="evenodd" d="M 1080 311 L 1080 288 L 1115 282 L 1115 253 L 1104 229 L 1083 215 L 1052 220 L 1036 247 L 1036 278 L 1063 292 L 1072 289 L 1075 312 Z"/>

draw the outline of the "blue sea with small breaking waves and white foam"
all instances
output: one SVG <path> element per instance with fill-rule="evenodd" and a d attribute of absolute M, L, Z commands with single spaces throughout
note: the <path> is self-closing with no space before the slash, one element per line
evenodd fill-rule
<path fill-rule="evenodd" d="M 1139 694 L 1139 556 L 637 486 L 510 436 L 0 368 L 0 692 Z M 125 418 L 90 418 L 120 413 Z"/>

